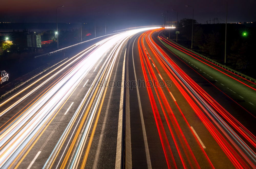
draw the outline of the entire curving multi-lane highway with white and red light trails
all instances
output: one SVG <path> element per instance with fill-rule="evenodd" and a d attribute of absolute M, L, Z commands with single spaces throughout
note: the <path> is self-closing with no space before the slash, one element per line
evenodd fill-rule
<path fill-rule="evenodd" d="M 0 168 L 256 168 L 256 84 L 123 29 L 0 101 Z"/>

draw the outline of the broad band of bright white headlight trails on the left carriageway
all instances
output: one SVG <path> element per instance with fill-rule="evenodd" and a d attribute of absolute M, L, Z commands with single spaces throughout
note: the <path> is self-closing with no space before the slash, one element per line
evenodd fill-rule
<path fill-rule="evenodd" d="M 105 59 L 117 57 L 113 54 L 105 55 L 109 49 L 116 48 L 118 46 L 120 50 L 123 40 L 128 39 L 136 33 L 157 28 L 159 27 L 126 31 L 96 43 L 90 47 L 90 51 L 92 50 L 92 52 L 89 52 L 88 49 L 80 55 L 71 58 L 73 61 L 70 64 L 67 64 L 57 73 L 41 82 L 41 84 L 35 87 L 35 89 L 31 90 L 28 94 L 13 103 L 9 108 L 1 112 L 0 116 L 13 109 L 21 101 L 30 99 L 29 96 L 32 96 L 33 99 L 35 96 L 32 94 L 36 90 L 39 90 L 40 87 L 46 85 L 46 83 L 56 77 L 57 74 L 61 74 L 65 68 L 86 55 L 86 57 L 81 59 L 78 64 L 73 66 L 67 73 L 63 74 L 63 77 L 56 84 L 51 86 L 46 93 L 42 94 L 36 102 L 32 103 L 27 109 L 22 111 L 16 119 L 11 121 L 2 131 L 0 131 L 0 168 L 12 166 L 14 165 L 13 162 L 20 159 L 21 152 L 31 143 L 33 139 L 35 139 L 35 136 L 38 135 L 38 133 L 44 128 L 45 124 L 56 115 L 59 108 L 66 102 L 67 98 L 80 83 L 80 81 L 89 73 L 89 71 L 94 69 L 95 65 L 97 65 L 97 63 L 102 60 L 103 57 L 105 57 Z M 107 66 L 113 66 L 114 62 L 109 62 L 107 64 L 110 65 L 106 65 L 105 68 L 107 68 Z M 110 76 L 110 73 L 108 76 Z M 102 93 L 102 91 L 100 93 Z M 99 98 L 94 103 L 94 110 L 95 106 L 98 104 L 98 101 Z M 88 124 L 92 122 L 92 117 L 93 116 L 90 115 L 90 119 L 87 122 L 85 130 L 86 133 L 88 132 Z M 87 135 L 86 133 L 84 133 L 84 135 Z M 83 143 L 83 141 L 81 143 Z"/>

